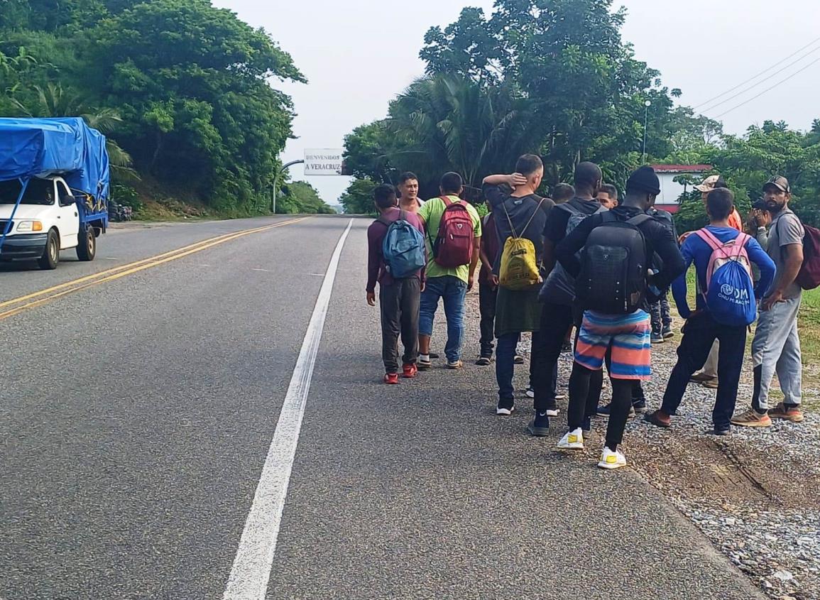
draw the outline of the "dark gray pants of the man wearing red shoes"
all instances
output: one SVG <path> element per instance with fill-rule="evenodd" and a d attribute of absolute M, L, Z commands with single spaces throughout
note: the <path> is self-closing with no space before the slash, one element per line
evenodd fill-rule
<path fill-rule="evenodd" d="M 421 281 L 416 277 L 379 286 L 381 360 L 387 373 L 399 372 L 399 335 L 404 346 L 403 364 L 417 361 L 420 298 Z"/>

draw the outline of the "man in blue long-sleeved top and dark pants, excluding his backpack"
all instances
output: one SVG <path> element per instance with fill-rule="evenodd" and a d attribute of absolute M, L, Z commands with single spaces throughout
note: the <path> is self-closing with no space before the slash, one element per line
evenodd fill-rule
<path fill-rule="evenodd" d="M 709 214 L 709 225 L 706 227 L 708 233 L 721 243 L 731 242 L 741 235 L 740 231 L 729 225 L 729 216 L 735 205 L 735 198 L 730 189 L 715 189 L 709 193 L 706 202 Z M 755 298 L 759 299 L 763 298 L 763 294 L 774 280 L 775 266 L 760 244 L 755 239 L 746 237 L 748 239 L 745 248 L 749 261 L 760 269 L 760 280 L 754 289 Z M 687 270 L 692 262 L 695 262 L 699 289 L 708 289 L 706 275 L 712 252 L 712 247 L 699 235 L 690 235 L 681 246 Z M 672 296 L 675 298 L 677 310 L 686 319 L 686 325 L 683 326 L 683 339 L 677 349 L 677 364 L 663 394 L 663 404 L 660 410 L 647 415 L 646 420 L 659 427 L 671 425 L 671 415 L 675 414 L 681 404 L 686 384 L 692 374 L 704 366 L 709 350 L 717 339 L 720 340 L 720 354 L 717 360 L 717 399 L 712 411 L 713 433 L 727 435 L 731 428 L 730 420 L 735 411 L 740 370 L 743 367 L 746 326 L 718 323 L 708 310 L 703 294 L 697 296 L 695 311 L 691 311 L 686 302 L 686 272 L 672 283 Z"/>

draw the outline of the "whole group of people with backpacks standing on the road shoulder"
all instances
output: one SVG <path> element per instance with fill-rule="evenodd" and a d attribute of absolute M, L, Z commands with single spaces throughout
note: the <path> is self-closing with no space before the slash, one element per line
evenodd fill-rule
<path fill-rule="evenodd" d="M 804 226 L 790 211 L 786 178 L 772 177 L 752 216 L 747 234 L 734 196 L 719 176 L 699 186 L 708 213 L 704 229 L 678 237 L 672 216 L 654 207 L 658 176 L 649 166 L 635 170 L 620 197 L 591 162 L 576 166 L 574 186 L 558 184 L 552 198 L 538 195 L 544 166 L 526 154 L 511 175 L 490 175 L 483 183 L 489 214 L 484 220 L 461 199 L 463 182 L 447 173 L 440 197 L 421 202 L 418 178 L 405 173 L 399 195 L 391 185 L 374 191 L 379 218 L 368 230 L 367 302 L 376 303 L 380 284 L 382 357 L 385 383 L 399 383 L 428 370 L 435 311 L 444 303 L 446 366 L 463 367 L 465 296 L 481 259 L 479 301 L 481 351 L 488 366 L 495 351 L 496 413 L 515 410 L 513 370 L 523 362 L 517 346 L 531 333 L 530 387 L 534 416 L 529 431 L 549 432 L 559 414 L 558 358 L 574 339 L 569 380 L 567 432 L 558 448 L 584 448 L 591 420 L 608 416 L 599 466 L 626 465 L 620 448 L 626 421 L 645 412 L 641 382 L 651 376 L 651 348 L 674 335 L 667 290 L 686 324 L 678 360 L 663 404 L 645 415 L 669 427 L 686 385 L 717 388 L 713 434 L 731 425 L 763 427 L 773 418 L 799 422 L 801 361 L 797 280 L 804 261 Z M 687 302 L 686 270 L 695 263 L 697 300 Z M 747 328 L 759 320 L 752 344 L 754 394 L 751 407 L 735 411 Z M 710 359 L 714 354 L 715 359 Z M 696 373 L 713 362 L 716 377 Z M 612 401 L 600 405 L 604 366 Z M 777 373 L 785 400 L 769 409 Z"/>

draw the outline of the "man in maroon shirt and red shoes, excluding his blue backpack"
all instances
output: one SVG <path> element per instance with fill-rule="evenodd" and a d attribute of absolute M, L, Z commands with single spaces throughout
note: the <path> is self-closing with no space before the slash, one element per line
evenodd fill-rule
<path fill-rule="evenodd" d="M 403 376 L 417 374 L 418 306 L 424 289 L 424 269 L 404 279 L 390 276 L 382 255 L 382 244 L 389 225 L 402 217 L 424 235 L 424 223 L 412 212 L 399 210 L 396 192 L 391 185 L 379 185 L 373 190 L 376 209 L 381 213 L 367 228 L 367 304 L 376 306 L 376 281 L 379 282 L 381 310 L 381 358 L 385 362 L 385 384 L 399 383 L 399 335 L 404 346 Z"/>

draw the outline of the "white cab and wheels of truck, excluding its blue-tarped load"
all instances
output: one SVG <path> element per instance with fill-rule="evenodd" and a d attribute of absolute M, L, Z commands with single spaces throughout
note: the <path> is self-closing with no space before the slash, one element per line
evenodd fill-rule
<path fill-rule="evenodd" d="M 7 229 L 20 190 L 19 180 L 0 181 L 0 234 Z M 41 268 L 53 269 L 60 251 L 69 248 L 77 248 L 80 260 L 93 260 L 100 232 L 81 226 L 80 220 L 77 198 L 62 177 L 32 178 L 14 212 L 0 260 L 36 259 Z"/>

